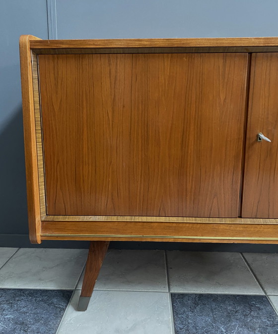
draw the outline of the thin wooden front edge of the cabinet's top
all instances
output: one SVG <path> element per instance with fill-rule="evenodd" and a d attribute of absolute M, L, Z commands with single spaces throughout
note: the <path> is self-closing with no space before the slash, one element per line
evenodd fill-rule
<path fill-rule="evenodd" d="M 217 47 L 275 47 L 278 37 L 238 38 L 143 38 L 143 39 L 30 39 L 30 49 L 74 48 L 217 48 Z"/>

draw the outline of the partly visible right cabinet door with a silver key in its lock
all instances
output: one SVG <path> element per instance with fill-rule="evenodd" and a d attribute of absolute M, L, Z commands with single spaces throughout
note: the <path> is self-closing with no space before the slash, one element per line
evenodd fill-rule
<path fill-rule="evenodd" d="M 278 53 L 252 55 L 242 217 L 278 218 L 277 74 Z"/>

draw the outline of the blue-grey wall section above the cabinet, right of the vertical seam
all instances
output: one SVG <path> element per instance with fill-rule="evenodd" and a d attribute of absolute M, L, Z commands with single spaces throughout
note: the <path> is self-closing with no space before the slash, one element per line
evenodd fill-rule
<path fill-rule="evenodd" d="M 57 0 L 58 38 L 278 35 L 277 0 Z"/>

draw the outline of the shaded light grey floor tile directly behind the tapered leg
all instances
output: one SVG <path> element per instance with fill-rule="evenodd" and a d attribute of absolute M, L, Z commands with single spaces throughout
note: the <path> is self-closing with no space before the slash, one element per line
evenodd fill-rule
<path fill-rule="evenodd" d="M 77 288 L 82 287 L 83 276 Z M 164 251 L 109 250 L 96 290 L 167 291 Z"/>

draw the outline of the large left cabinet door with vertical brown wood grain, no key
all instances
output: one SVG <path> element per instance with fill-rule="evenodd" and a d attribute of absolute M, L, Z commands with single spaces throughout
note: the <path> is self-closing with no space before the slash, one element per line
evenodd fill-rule
<path fill-rule="evenodd" d="M 48 214 L 237 217 L 247 54 L 39 68 Z"/>

